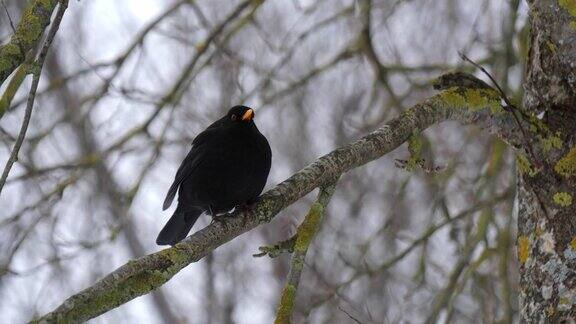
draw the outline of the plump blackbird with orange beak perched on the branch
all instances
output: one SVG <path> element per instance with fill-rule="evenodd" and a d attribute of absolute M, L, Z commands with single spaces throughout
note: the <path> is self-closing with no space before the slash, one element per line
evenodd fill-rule
<path fill-rule="evenodd" d="M 198 217 L 256 202 L 264 189 L 272 152 L 254 123 L 254 111 L 234 106 L 192 141 L 168 190 L 163 210 L 178 191 L 178 207 L 158 238 L 158 245 L 183 240 Z"/>

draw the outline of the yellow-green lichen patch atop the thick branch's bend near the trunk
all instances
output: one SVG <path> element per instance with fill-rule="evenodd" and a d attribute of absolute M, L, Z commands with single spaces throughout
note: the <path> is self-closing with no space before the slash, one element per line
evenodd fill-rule
<path fill-rule="evenodd" d="M 469 109 L 471 111 L 490 108 L 492 113 L 503 112 L 498 93 L 491 89 L 453 87 L 439 95 L 442 104 L 448 107 Z"/>

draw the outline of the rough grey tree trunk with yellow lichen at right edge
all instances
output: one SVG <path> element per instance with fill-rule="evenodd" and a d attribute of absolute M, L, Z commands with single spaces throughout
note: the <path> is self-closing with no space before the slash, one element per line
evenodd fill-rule
<path fill-rule="evenodd" d="M 523 106 L 538 119 L 517 157 L 520 307 L 557 322 L 576 318 L 576 1 L 528 4 Z"/>

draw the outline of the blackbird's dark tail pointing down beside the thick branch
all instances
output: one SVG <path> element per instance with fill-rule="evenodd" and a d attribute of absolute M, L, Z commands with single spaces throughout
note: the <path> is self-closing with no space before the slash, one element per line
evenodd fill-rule
<path fill-rule="evenodd" d="M 164 225 L 164 228 L 158 234 L 156 244 L 174 245 L 182 241 L 201 214 L 202 210 L 199 208 L 187 208 L 184 210 L 178 205 L 168 223 Z"/>

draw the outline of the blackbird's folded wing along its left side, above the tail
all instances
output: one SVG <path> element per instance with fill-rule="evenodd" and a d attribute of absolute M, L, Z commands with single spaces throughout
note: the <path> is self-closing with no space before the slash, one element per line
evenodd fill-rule
<path fill-rule="evenodd" d="M 206 142 L 207 138 L 213 137 L 217 131 L 217 127 L 212 126 L 214 126 L 214 124 L 202 133 L 198 134 L 194 141 L 192 141 L 192 148 L 190 149 L 190 152 L 188 152 L 188 155 L 186 155 L 186 158 L 184 158 L 184 161 L 182 161 L 182 164 L 180 164 L 174 182 L 172 182 L 170 189 L 168 189 L 168 193 L 164 199 L 164 204 L 162 205 L 162 210 L 166 210 L 170 207 L 182 181 L 184 181 L 184 179 L 186 179 L 200 163 L 201 155 L 198 154 L 199 147 Z"/>

